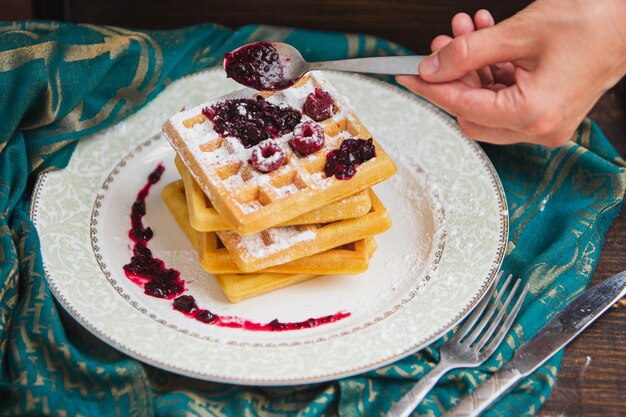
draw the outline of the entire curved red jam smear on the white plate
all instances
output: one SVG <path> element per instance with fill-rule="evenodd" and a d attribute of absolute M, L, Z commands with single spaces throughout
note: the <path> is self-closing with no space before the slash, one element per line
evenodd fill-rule
<path fill-rule="evenodd" d="M 349 312 L 341 311 L 299 322 L 282 322 L 274 319 L 269 323 L 258 323 L 236 316 L 220 316 L 207 309 L 198 307 L 192 295 L 183 294 L 186 288 L 185 281 L 180 277 L 180 272 L 167 268 L 165 262 L 155 258 L 152 251 L 148 249 L 148 242 L 154 237 L 154 232 L 150 227 L 143 225 L 143 217 L 146 215 L 146 198 L 152 186 L 159 182 L 164 171 L 163 164 L 159 164 L 150 173 L 146 184 L 137 193 L 130 213 L 131 228 L 128 231 L 128 237 L 133 242 L 133 256 L 130 262 L 124 265 L 123 269 L 130 281 L 144 288 L 145 294 L 157 298 L 172 299 L 172 308 L 174 310 L 178 310 L 202 323 L 251 331 L 280 332 L 300 330 L 333 323 L 350 317 Z"/>

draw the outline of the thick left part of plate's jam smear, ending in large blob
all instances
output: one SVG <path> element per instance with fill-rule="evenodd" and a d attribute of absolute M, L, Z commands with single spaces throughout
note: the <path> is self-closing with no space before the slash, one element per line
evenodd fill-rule
<path fill-rule="evenodd" d="M 130 212 L 130 230 L 128 236 L 134 243 L 133 257 L 124 265 L 126 276 L 138 285 L 142 285 L 144 292 L 157 298 L 174 298 L 185 290 L 185 283 L 180 279 L 180 273 L 175 269 L 167 268 L 165 263 L 155 258 L 148 249 L 148 241 L 154 233 L 149 227 L 144 227 L 143 216 L 146 215 L 146 198 L 150 188 L 163 175 L 165 168 L 159 164 L 148 176 L 148 182 L 137 193 Z"/>

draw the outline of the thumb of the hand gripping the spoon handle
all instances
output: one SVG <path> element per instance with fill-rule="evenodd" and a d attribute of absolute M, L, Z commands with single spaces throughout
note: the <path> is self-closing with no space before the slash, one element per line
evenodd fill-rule
<path fill-rule="evenodd" d="M 420 76 L 430 82 L 453 81 L 479 68 L 521 58 L 528 49 L 527 37 L 511 32 L 502 22 L 454 38 L 420 64 Z"/>

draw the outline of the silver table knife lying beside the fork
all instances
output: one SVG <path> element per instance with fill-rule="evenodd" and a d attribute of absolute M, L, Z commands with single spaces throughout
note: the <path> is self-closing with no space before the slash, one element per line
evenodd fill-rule
<path fill-rule="evenodd" d="M 619 299 L 626 296 L 626 271 L 613 275 L 578 296 L 517 349 L 513 359 L 476 389 L 446 417 L 474 417 L 520 379 L 539 368 L 578 336 Z"/>

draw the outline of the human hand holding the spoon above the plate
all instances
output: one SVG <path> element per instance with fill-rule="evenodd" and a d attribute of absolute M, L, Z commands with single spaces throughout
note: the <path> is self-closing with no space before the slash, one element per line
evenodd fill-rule
<path fill-rule="evenodd" d="M 473 139 L 559 146 L 626 73 L 626 1 L 537 0 L 494 25 L 452 20 L 420 76 L 399 83 L 457 116 Z"/>

